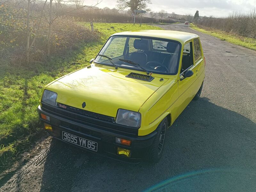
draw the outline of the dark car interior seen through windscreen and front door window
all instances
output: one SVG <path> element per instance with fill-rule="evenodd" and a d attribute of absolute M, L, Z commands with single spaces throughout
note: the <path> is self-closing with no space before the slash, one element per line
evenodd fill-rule
<path fill-rule="evenodd" d="M 110 43 L 103 53 L 111 57 L 111 60 L 116 65 L 134 67 L 132 64 L 121 61 L 120 59 L 131 60 L 153 73 L 177 74 L 180 59 L 179 43 L 161 39 L 136 37 L 116 37 L 111 41 L 113 43 Z M 117 46 L 120 48 L 116 49 Z M 121 46 L 123 47 L 121 48 Z M 184 45 L 180 73 L 193 65 L 193 57 L 191 57 L 193 55 L 192 50 L 192 42 Z M 102 60 L 103 62 L 110 62 L 106 58 Z"/>

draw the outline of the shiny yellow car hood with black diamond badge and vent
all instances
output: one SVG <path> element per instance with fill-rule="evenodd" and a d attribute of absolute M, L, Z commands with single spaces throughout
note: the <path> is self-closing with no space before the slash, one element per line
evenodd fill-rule
<path fill-rule="evenodd" d="M 92 65 L 63 76 L 45 89 L 57 92 L 57 102 L 61 104 L 116 117 L 119 108 L 139 111 L 143 103 L 168 80 L 160 81 L 156 76 L 151 82 L 132 79 L 126 77 L 130 72 Z M 84 108 L 83 102 L 86 103 Z"/>

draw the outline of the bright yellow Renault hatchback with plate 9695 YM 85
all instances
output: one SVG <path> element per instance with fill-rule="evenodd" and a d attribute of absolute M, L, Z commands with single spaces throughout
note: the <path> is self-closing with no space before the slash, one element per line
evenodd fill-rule
<path fill-rule="evenodd" d="M 49 135 L 71 145 L 128 163 L 157 162 L 166 129 L 200 97 L 204 68 L 196 34 L 116 33 L 89 66 L 44 87 L 39 117 Z"/>

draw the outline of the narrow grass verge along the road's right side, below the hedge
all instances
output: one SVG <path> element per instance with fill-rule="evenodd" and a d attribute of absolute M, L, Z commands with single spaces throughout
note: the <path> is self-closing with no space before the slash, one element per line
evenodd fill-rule
<path fill-rule="evenodd" d="M 252 50 L 256 50 L 256 39 L 238 36 L 236 34 L 226 33 L 224 31 L 210 29 L 210 28 L 199 28 L 194 24 L 190 24 L 190 27 L 200 31 L 202 33 L 219 38 L 222 41 L 227 41 L 232 44 L 240 45 Z M 201 26 L 200 26 L 201 27 Z"/>

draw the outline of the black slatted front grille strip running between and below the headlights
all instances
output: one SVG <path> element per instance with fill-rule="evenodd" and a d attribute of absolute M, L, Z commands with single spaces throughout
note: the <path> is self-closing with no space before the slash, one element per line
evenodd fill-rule
<path fill-rule="evenodd" d="M 131 136 L 131 137 L 138 136 L 139 128 L 119 125 L 119 124 L 114 123 L 112 121 L 112 119 L 111 119 L 111 122 L 109 122 L 108 116 L 105 116 L 106 119 L 93 118 L 93 117 L 99 117 L 99 116 L 102 117 L 104 115 L 93 113 L 94 114 L 93 117 L 85 116 L 85 115 L 82 115 L 81 113 L 77 113 L 76 110 L 74 110 L 74 112 L 73 112 L 71 110 L 69 111 L 67 109 L 62 109 L 60 107 L 53 107 L 44 102 L 42 102 L 42 108 L 45 112 L 50 113 L 52 115 L 59 116 L 64 119 L 68 119 L 70 121 L 75 121 L 80 124 L 88 125 L 88 126 L 91 126 L 91 127 L 97 128 L 97 129 L 101 129 L 104 131 L 109 131 L 109 132 L 113 132 L 113 133 L 117 133 L 117 134 L 127 135 L 127 136 Z M 111 118 L 113 118 L 113 117 L 111 117 Z M 60 122 L 60 124 L 62 124 L 62 122 Z"/>

